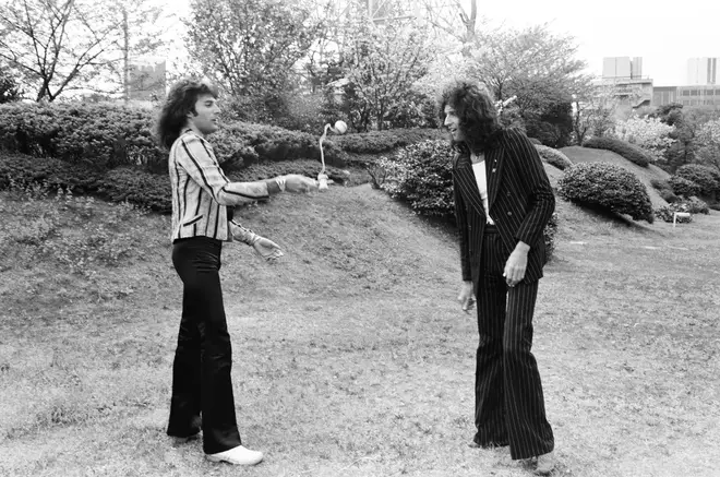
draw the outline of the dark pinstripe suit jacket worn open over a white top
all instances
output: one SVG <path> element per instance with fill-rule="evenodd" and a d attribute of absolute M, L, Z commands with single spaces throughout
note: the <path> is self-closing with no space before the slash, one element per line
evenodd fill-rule
<path fill-rule="evenodd" d="M 505 129 L 485 151 L 485 171 L 489 211 L 504 245 L 503 261 L 518 241 L 529 245 L 525 282 L 536 282 L 542 277 L 544 264 L 542 232 L 555 210 L 540 156 L 523 132 Z M 455 156 L 453 186 L 463 279 L 471 279 L 477 287 L 487 218 L 467 150 Z"/>

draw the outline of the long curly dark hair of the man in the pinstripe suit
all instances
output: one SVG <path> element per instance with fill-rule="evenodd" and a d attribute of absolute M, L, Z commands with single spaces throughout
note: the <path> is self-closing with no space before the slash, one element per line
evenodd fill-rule
<path fill-rule="evenodd" d="M 460 120 L 458 126 L 470 151 L 475 153 L 487 151 L 502 126 L 490 92 L 484 85 L 470 80 L 456 80 L 446 84 L 437 97 L 437 116 L 441 124 L 445 122 L 447 105 L 455 109 Z"/>

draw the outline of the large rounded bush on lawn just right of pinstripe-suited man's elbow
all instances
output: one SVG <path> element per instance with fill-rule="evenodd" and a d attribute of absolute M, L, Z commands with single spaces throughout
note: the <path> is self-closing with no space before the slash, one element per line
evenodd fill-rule
<path fill-rule="evenodd" d="M 608 163 L 575 164 L 557 182 L 560 195 L 581 204 L 600 205 L 634 220 L 652 223 L 647 189 L 629 170 Z"/>

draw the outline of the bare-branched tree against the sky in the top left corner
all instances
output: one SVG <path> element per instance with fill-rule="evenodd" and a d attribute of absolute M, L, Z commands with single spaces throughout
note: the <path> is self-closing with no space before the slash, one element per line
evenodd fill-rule
<path fill-rule="evenodd" d="M 12 1 L 0 10 L 0 59 L 20 73 L 21 84 L 35 92 L 37 102 L 52 102 L 72 90 L 97 91 L 93 85 L 111 84 L 107 76 L 100 79 L 122 60 L 118 51 L 139 52 L 130 49 L 129 27 L 124 27 L 124 44 L 118 40 L 123 19 L 115 13 L 118 8 L 129 11 L 141 4 L 140 0 L 129 4 L 116 0 Z M 152 17 L 135 17 L 141 20 Z"/>

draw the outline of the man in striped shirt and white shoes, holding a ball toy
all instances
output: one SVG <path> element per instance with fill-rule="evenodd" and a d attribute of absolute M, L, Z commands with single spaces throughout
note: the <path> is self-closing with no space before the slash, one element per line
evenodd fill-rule
<path fill-rule="evenodd" d="M 202 429 L 209 461 L 254 465 L 263 454 L 242 445 L 235 415 L 230 335 L 219 279 L 223 242 L 237 239 L 266 259 L 279 257 L 274 242 L 231 219 L 232 207 L 284 190 L 317 190 L 317 184 L 299 175 L 228 180 L 205 140 L 218 129 L 218 115 L 213 85 L 182 80 L 170 88 L 157 127 L 160 143 L 170 150 L 172 264 L 183 284 L 167 433 L 184 441 Z"/>

